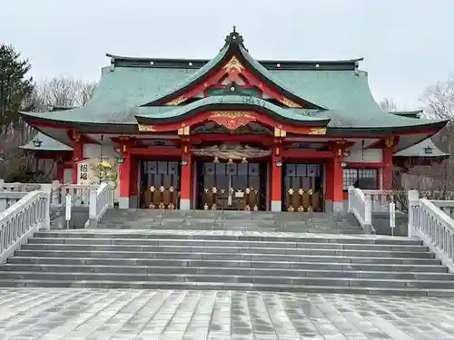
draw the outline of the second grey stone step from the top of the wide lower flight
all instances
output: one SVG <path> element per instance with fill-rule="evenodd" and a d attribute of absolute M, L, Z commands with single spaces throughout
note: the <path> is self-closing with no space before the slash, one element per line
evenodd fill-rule
<path fill-rule="evenodd" d="M 190 247 L 239 247 L 239 248 L 328 248 L 328 249 L 356 249 L 356 250 L 384 250 L 384 251 L 415 251 L 428 252 L 429 248 L 422 245 L 370 245 L 370 244 L 343 244 L 333 242 L 265 242 L 242 240 L 199 240 L 199 239 L 167 239 L 167 238 L 28 238 L 33 245 L 65 244 L 65 245 L 117 245 L 117 246 L 190 246 Z"/>

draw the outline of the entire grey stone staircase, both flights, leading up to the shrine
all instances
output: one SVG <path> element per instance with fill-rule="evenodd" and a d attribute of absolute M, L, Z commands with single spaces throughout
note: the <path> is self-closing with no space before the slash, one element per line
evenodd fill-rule
<path fill-rule="evenodd" d="M 225 219 L 222 212 L 196 211 L 183 222 L 172 214 L 109 211 L 104 228 L 36 233 L 0 266 L 0 287 L 454 296 L 454 275 L 420 240 L 358 235 L 347 217 L 313 214 L 289 227 L 302 214 L 227 213 Z M 200 222 L 212 216 L 218 221 L 212 228 Z M 122 219 L 130 228 L 122 228 Z M 189 223 L 194 220 L 202 224 Z M 343 234 L 315 232 L 314 226 L 327 231 L 330 224 Z M 350 228 L 355 234 L 347 235 Z"/>

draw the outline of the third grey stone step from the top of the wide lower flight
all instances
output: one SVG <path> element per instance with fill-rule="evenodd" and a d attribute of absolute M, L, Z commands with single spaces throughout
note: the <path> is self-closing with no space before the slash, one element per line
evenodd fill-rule
<path fill-rule="evenodd" d="M 373 247 L 366 250 L 350 250 L 338 248 L 252 248 L 252 247 L 204 247 L 204 246 L 123 246 L 123 245 L 73 245 L 73 244 L 25 244 L 19 251 L 85 251 L 85 252 L 137 252 L 141 253 L 138 257 L 143 257 L 143 253 L 210 253 L 210 254 L 244 254 L 244 255 L 269 255 L 274 256 L 324 256 L 324 257 L 405 257 L 405 258 L 433 258 L 434 255 L 427 251 L 386 251 L 376 250 Z"/>

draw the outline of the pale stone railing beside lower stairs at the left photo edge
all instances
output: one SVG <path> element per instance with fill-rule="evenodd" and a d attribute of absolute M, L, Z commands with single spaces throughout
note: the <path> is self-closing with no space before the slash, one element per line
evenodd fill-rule
<path fill-rule="evenodd" d="M 32 191 L 0 212 L 0 263 L 40 228 L 50 228 L 50 191 Z"/>

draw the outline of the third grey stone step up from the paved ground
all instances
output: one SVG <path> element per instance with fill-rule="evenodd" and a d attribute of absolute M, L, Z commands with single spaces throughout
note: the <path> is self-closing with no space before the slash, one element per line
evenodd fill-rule
<path fill-rule="evenodd" d="M 93 265 L 25 265 L 6 264 L 0 267 L 2 275 L 5 272 L 57 272 L 57 273 L 103 273 L 103 274 L 174 274 L 208 276 L 252 276 L 252 277 L 341 277 L 341 278 L 373 278 L 389 280 L 452 280 L 454 274 L 397 272 L 397 271 L 365 271 L 365 270 L 326 270 L 326 269 L 295 269 L 295 268 L 251 268 L 251 267 L 161 267 L 161 266 L 93 266 Z"/>

